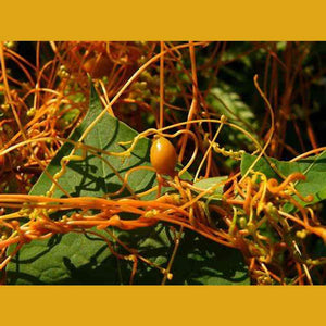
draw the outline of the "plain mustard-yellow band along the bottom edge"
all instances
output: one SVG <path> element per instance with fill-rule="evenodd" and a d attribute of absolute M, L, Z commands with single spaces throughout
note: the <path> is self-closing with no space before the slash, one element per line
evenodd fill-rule
<path fill-rule="evenodd" d="M 34 326 L 323 325 L 325 306 L 324 287 L 13 286 L 0 296 L 2 325 Z"/>

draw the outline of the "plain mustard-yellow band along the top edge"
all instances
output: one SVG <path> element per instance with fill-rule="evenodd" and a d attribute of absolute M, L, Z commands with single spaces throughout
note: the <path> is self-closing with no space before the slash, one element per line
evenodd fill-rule
<path fill-rule="evenodd" d="M 2 0 L 8 40 L 326 40 L 325 2 Z"/>

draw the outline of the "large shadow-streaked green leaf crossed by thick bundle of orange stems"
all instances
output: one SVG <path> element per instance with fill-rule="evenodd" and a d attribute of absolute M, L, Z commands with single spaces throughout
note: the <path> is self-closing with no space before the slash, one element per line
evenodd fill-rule
<path fill-rule="evenodd" d="M 84 130 L 102 111 L 102 105 L 92 90 L 89 111 L 83 123 L 71 136 L 77 141 Z M 122 122 L 105 114 L 88 134 L 86 145 L 108 151 L 124 151 L 117 142 L 134 139 L 137 135 Z M 134 166 L 149 165 L 149 139 L 141 139 L 125 160 L 116 156 L 105 156 L 110 164 L 122 176 Z M 47 171 L 53 175 L 60 171 L 60 160 L 67 155 L 73 146 L 65 143 L 58 151 Z M 190 177 L 190 175 L 188 175 Z M 149 171 L 137 171 L 128 179 L 135 192 L 150 189 L 155 184 L 155 174 Z M 66 173 L 59 184 L 70 195 L 101 197 L 116 191 L 121 180 L 101 160 L 87 153 L 83 161 L 71 161 Z M 33 187 L 32 195 L 45 195 L 51 186 L 51 180 L 42 174 Z M 166 189 L 165 189 L 166 190 Z M 128 195 L 126 190 L 121 196 Z M 57 189 L 54 197 L 64 193 Z M 155 195 L 153 195 L 155 196 Z M 133 216 L 123 216 L 124 218 Z M 139 228 L 133 231 L 112 229 L 114 235 L 130 248 L 156 265 L 166 267 L 174 249 L 174 234 L 167 225 L 158 224 L 154 227 Z M 120 253 L 127 253 L 114 244 Z M 10 251 L 14 247 L 10 248 Z M 108 244 L 96 236 L 80 234 L 57 235 L 49 240 L 36 240 L 23 246 L 18 254 L 7 266 L 9 284 L 128 284 L 133 264 L 129 261 L 117 260 L 108 249 Z M 177 253 L 172 273 L 172 284 L 249 284 L 243 259 L 237 250 L 224 247 L 185 231 L 179 252 Z M 158 268 L 141 261 L 138 264 L 135 284 L 160 284 L 163 278 Z"/>

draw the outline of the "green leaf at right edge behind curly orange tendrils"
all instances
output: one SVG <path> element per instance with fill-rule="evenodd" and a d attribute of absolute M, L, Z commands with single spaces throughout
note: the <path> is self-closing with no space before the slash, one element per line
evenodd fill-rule
<path fill-rule="evenodd" d="M 249 155 L 244 153 L 241 160 L 241 174 L 244 175 L 248 168 L 251 166 L 253 161 L 256 159 L 254 155 Z M 272 163 L 275 164 L 276 168 L 284 175 L 288 176 L 294 172 L 300 172 L 305 175 L 305 180 L 300 180 L 296 183 L 296 189 L 302 195 L 313 195 L 313 202 L 304 202 L 300 200 L 297 196 L 294 199 L 302 205 L 308 205 L 312 203 L 319 202 L 326 199 L 326 151 L 302 159 L 298 162 L 285 162 L 277 161 L 275 159 L 269 159 Z M 264 173 L 267 178 L 276 178 L 281 181 L 281 178 L 276 174 L 276 172 L 271 167 L 269 163 L 265 158 L 262 158 L 253 167 L 254 171 Z M 287 210 L 291 210 L 288 205 Z"/>

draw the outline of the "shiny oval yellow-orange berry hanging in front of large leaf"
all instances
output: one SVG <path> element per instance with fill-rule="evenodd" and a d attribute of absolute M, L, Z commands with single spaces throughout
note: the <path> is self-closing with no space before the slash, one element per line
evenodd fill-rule
<path fill-rule="evenodd" d="M 160 174 L 173 175 L 177 163 L 174 146 L 164 137 L 156 138 L 151 147 L 151 163 Z"/>

